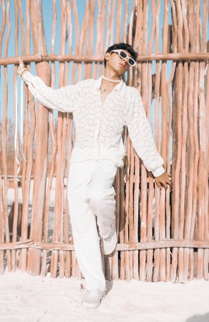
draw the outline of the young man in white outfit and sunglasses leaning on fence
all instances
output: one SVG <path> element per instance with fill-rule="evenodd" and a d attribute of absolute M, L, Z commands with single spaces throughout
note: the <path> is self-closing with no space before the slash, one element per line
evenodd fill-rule
<path fill-rule="evenodd" d="M 111 254 L 117 244 L 112 184 L 117 167 L 123 166 L 124 125 L 157 186 L 166 189 L 171 184 L 157 153 L 140 93 L 121 80 L 127 69 L 136 65 L 136 58 L 137 53 L 128 44 L 110 46 L 104 55 L 104 76 L 57 90 L 34 77 L 22 61 L 18 67 L 18 74 L 43 106 L 73 112 L 76 142 L 70 158 L 67 196 L 75 253 L 88 289 L 82 304 L 89 308 L 98 307 L 106 291 L 100 247 L 104 254 Z"/>

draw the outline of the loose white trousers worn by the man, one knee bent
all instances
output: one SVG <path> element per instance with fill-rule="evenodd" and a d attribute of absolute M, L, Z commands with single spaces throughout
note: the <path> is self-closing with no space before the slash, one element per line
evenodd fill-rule
<path fill-rule="evenodd" d="M 75 254 L 87 289 L 106 289 L 97 224 L 100 235 L 107 237 L 115 219 L 112 183 L 116 171 L 116 164 L 110 160 L 70 164 L 67 189 L 70 220 Z"/>

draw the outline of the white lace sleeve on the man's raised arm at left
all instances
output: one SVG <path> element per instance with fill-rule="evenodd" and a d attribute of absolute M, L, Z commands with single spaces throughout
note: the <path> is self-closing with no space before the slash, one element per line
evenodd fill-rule
<path fill-rule="evenodd" d="M 26 71 L 22 78 L 28 85 L 32 95 L 45 107 L 61 112 L 73 112 L 77 95 L 76 85 L 68 85 L 57 90 L 47 86 L 38 76 Z"/>

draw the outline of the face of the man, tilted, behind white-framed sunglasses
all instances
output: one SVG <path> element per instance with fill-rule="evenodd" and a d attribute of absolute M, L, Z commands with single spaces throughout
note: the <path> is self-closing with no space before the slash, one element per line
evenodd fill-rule
<path fill-rule="evenodd" d="M 129 57 L 131 57 L 128 51 L 123 51 Z M 121 58 L 118 53 L 105 53 L 104 57 L 106 58 L 106 66 L 108 66 L 108 68 L 110 69 L 113 69 L 118 76 L 123 75 L 130 67 L 130 65 L 128 64 L 128 58 Z"/>

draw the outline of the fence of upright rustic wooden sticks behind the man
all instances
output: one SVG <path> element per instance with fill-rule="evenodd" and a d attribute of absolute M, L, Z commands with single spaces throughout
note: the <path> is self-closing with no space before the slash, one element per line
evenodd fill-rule
<path fill-rule="evenodd" d="M 207 0 L 86 0 L 82 1 L 82 18 L 79 1 L 46 2 L 48 15 L 53 15 L 52 26 L 45 25 L 45 31 L 51 28 L 50 53 L 41 0 L 0 1 L 0 79 L 4 83 L 0 126 L 0 273 L 7 266 L 8 271 L 18 268 L 33 275 L 44 276 L 50 271 L 52 277 L 81 277 L 65 189 L 75 139 L 72 114 L 58 112 L 54 120 L 51 110 L 35 104 L 24 84 L 21 138 L 16 95 L 17 89 L 20 93 L 18 56 L 29 70 L 36 62 L 36 73 L 47 85 L 55 87 L 58 78 L 61 87 L 69 79 L 74 84 L 102 75 L 107 47 L 127 42 L 138 51 L 139 58 L 124 80 L 141 92 L 154 127 L 157 150 L 167 172 L 172 173 L 173 187 L 166 191 L 157 188 L 127 134 L 125 166 L 118 169 L 114 182 L 119 242 L 112 255 L 103 256 L 106 278 L 172 282 L 209 279 Z M 14 44 L 13 56 L 8 56 L 9 40 Z M 8 105 L 11 95 L 12 106 Z M 14 125 L 13 130 L 8 130 L 11 109 Z M 14 198 L 8 207 L 10 180 Z M 54 208 L 50 203 L 52 190 Z"/>

